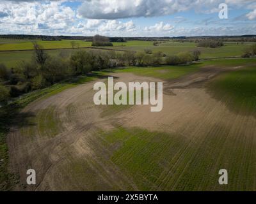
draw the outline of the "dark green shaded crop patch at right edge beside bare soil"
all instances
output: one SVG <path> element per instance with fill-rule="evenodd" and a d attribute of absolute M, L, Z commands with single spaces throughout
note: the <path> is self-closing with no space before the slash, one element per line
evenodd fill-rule
<path fill-rule="evenodd" d="M 207 85 L 209 93 L 236 113 L 256 113 L 256 66 L 223 73 Z"/>

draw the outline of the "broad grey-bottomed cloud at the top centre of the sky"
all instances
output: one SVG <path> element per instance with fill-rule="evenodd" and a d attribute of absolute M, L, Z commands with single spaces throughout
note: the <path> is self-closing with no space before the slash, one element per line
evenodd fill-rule
<path fill-rule="evenodd" d="M 177 0 L 95 0 L 84 1 L 78 12 L 85 18 L 116 19 L 129 17 L 152 17 L 186 10 L 188 1 Z"/>

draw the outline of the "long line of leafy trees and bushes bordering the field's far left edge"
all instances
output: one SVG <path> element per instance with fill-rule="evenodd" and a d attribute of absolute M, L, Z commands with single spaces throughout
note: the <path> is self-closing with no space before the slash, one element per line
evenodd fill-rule
<path fill-rule="evenodd" d="M 43 89 L 90 71 L 124 66 L 178 65 L 199 59 L 200 51 L 166 56 L 163 52 L 115 52 L 113 50 L 78 50 L 70 57 L 50 56 L 38 43 L 33 43 L 31 61 L 22 61 L 13 68 L 0 64 L 0 102 L 4 103 L 29 91 Z"/>

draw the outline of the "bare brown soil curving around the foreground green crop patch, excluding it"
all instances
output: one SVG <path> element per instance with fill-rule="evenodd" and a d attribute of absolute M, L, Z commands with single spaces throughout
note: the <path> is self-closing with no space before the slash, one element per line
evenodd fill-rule
<path fill-rule="evenodd" d="M 159 113 L 152 113 L 149 106 L 141 105 L 102 117 L 102 107 L 93 104 L 92 88 L 95 82 L 31 103 L 22 112 L 35 115 L 31 117 L 33 124 L 22 128 L 13 127 L 8 135 L 10 169 L 20 174 L 20 184 L 15 189 L 140 189 L 132 177 L 109 161 L 108 150 L 93 138 L 99 130 L 109 131 L 116 124 L 127 128 L 139 127 L 149 131 L 176 133 L 180 137 L 189 138 L 186 149 L 193 143 L 199 143 L 200 138 L 204 140 L 204 136 L 209 133 L 216 133 L 216 136 L 223 134 L 221 129 L 216 128 L 218 124 L 225 128 L 228 137 L 232 138 L 237 135 L 234 133 L 239 133 L 251 138 L 256 134 L 255 117 L 230 112 L 223 103 L 211 98 L 205 91 L 204 82 L 218 73 L 220 69 L 207 67 L 179 80 L 164 82 L 163 110 Z M 114 73 L 113 76 L 123 82 L 160 81 L 131 73 Z M 53 118 L 46 117 L 47 115 L 52 115 Z M 47 126 L 49 120 L 54 121 L 54 131 Z M 255 143 L 255 140 L 252 141 Z M 84 170 L 79 168 L 78 163 L 83 163 Z M 37 172 L 37 185 L 24 188 L 26 170 L 29 168 Z M 79 180 L 79 174 L 83 173 L 86 174 L 83 175 L 85 179 Z M 159 175 L 158 180 L 171 176 Z M 161 187 L 161 184 L 152 187 L 152 190 L 156 189 L 171 190 Z"/>

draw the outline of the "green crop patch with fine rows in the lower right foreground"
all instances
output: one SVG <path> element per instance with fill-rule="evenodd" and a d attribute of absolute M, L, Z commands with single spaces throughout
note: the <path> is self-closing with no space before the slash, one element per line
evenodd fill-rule
<path fill-rule="evenodd" d="M 255 190 L 253 136 L 229 131 L 214 124 L 196 138 L 122 127 L 97 135 L 109 159 L 141 191 Z M 227 186 L 218 184 L 218 171 L 223 168 L 228 170 Z"/>

